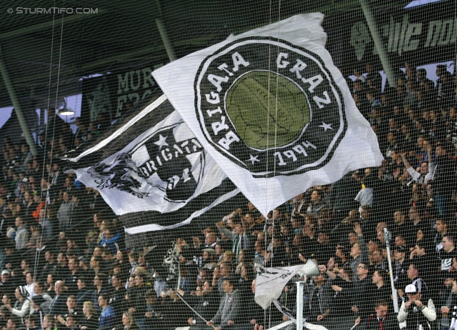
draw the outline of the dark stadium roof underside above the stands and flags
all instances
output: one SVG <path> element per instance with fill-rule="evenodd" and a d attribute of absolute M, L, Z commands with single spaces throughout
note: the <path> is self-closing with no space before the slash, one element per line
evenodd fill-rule
<path fill-rule="evenodd" d="M 381 1 L 381 6 L 409 2 Z M 380 8 L 378 1 L 372 3 Z M 260 0 L 162 0 L 160 4 L 151 0 L 24 0 L 20 7 L 16 4 L 0 4 L 0 56 L 19 99 L 34 104 L 48 99 L 49 90 L 55 96 L 57 81 L 59 96 L 67 96 L 81 93 L 78 81 L 82 76 L 132 64 L 138 67 L 141 62 L 166 63 L 157 18 L 179 58 L 231 33 L 264 25 L 270 17 L 275 21 L 303 12 L 332 14 L 360 8 L 358 0 L 282 0 L 281 8 L 271 12 L 268 1 Z M 71 14 L 60 8 L 82 8 L 89 14 Z M 48 13 L 39 14 L 36 9 Z M 1 79 L 0 108 L 3 106 L 11 106 L 11 100 Z"/>

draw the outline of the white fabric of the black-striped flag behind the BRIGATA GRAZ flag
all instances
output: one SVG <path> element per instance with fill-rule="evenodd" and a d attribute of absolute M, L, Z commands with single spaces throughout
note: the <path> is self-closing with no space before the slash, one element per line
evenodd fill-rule
<path fill-rule="evenodd" d="M 204 150 L 176 111 L 158 120 L 171 105 L 162 95 L 106 139 L 74 158 L 69 172 L 84 185 L 98 190 L 117 215 L 140 211 L 169 213 L 198 197 L 201 208 L 169 226 L 144 223 L 126 229 L 129 234 L 170 229 L 189 223 L 216 204 L 238 193 L 217 188 L 226 174 Z M 161 112 L 162 111 L 162 112 Z M 114 152 L 106 154 L 106 149 Z M 87 164 L 90 166 L 78 166 Z M 216 194 L 212 194 L 214 189 Z M 208 197 L 204 201 L 201 196 Z"/>

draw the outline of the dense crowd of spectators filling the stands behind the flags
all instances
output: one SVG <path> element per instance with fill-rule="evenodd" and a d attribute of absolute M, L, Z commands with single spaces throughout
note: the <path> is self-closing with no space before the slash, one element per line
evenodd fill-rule
<path fill-rule="evenodd" d="M 124 229 L 99 192 L 51 159 L 53 150 L 96 139 L 108 125 L 79 120 L 71 134 L 51 114 L 47 131 L 56 138 L 41 136 L 38 156 L 25 142 L 5 140 L 1 328 L 267 329 L 295 314 L 296 279 L 278 299 L 288 314 L 273 305 L 264 311 L 254 301 L 258 267 L 312 259 L 320 274 L 305 284 L 309 323 L 449 329 L 457 305 L 456 82 L 446 66 L 438 66 L 435 86 L 423 69 L 406 64 L 398 87 L 381 92 L 381 76 L 371 71 L 369 64 L 354 70 L 350 86 L 378 136 L 382 166 L 314 186 L 268 219 L 248 203 L 198 233 L 183 229 L 175 247 L 178 289 L 169 288 L 166 269 L 146 261 L 148 246 L 126 246 Z"/>

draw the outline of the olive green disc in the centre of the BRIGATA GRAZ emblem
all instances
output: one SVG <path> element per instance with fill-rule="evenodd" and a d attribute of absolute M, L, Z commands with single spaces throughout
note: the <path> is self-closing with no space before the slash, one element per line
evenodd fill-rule
<path fill-rule="evenodd" d="M 295 141 L 310 118 L 303 91 L 271 71 L 251 71 L 235 81 L 226 94 L 226 111 L 241 139 L 262 150 Z"/>

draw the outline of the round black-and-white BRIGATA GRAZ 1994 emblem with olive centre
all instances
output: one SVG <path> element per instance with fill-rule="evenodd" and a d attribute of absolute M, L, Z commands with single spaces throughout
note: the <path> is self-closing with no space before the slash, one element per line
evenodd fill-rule
<path fill-rule="evenodd" d="M 322 59 L 287 41 L 218 49 L 202 62 L 195 93 L 206 139 L 253 176 L 318 169 L 346 131 L 343 96 Z"/>

